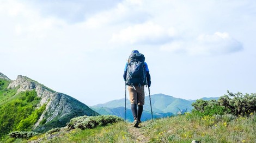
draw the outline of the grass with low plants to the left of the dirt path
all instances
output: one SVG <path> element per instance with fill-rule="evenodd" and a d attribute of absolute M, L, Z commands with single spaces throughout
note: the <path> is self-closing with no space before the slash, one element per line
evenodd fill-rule
<path fill-rule="evenodd" d="M 54 136 L 57 137 L 49 140 L 49 138 Z M 76 128 L 71 131 L 63 131 L 62 129 L 62 132 L 39 135 L 29 141 L 38 138 L 41 138 L 42 142 L 134 142 L 128 133 L 128 127 L 125 122 L 105 127 L 96 127 L 94 129 L 81 130 Z"/>

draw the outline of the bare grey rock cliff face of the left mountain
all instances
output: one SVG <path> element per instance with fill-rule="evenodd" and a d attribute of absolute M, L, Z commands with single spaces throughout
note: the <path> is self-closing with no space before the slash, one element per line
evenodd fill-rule
<path fill-rule="evenodd" d="M 2 73 L 0 74 L 0 78 L 11 81 Z M 38 103 L 36 108 L 46 105 L 45 111 L 34 125 L 35 131 L 38 132 L 45 132 L 51 128 L 63 127 L 75 116 L 99 115 L 87 105 L 72 98 L 71 96 L 55 92 L 54 90 L 47 88 L 26 76 L 17 76 L 16 80 L 10 82 L 8 88 L 19 88 L 17 93 L 27 90 L 35 90 L 37 96 L 40 97 L 40 103 Z M 40 125 L 39 123 L 42 120 L 44 120 L 45 123 Z"/>

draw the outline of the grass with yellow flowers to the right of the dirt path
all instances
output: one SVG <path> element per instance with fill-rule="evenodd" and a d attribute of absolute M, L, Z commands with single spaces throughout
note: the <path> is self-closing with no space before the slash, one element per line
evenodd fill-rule
<path fill-rule="evenodd" d="M 201 118 L 190 113 L 183 116 L 159 119 L 145 126 L 150 142 L 255 142 L 256 116 L 227 120 L 215 116 Z M 154 132 L 152 132 L 154 131 Z"/>

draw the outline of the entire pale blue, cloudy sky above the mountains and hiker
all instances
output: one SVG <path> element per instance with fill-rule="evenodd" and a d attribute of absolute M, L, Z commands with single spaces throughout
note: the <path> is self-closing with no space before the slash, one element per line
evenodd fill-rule
<path fill-rule="evenodd" d="M 1 73 L 89 106 L 125 97 L 134 49 L 151 95 L 256 93 L 254 0 L 0 0 L 0 20 Z"/>

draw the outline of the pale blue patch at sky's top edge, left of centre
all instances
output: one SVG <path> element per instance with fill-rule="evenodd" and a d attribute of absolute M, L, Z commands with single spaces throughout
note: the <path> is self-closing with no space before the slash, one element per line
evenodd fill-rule
<path fill-rule="evenodd" d="M 27 1 L 27 3 L 40 9 L 44 17 L 57 17 L 63 21 L 74 24 L 83 22 L 88 17 L 108 9 L 112 9 L 120 1 L 116 0 L 78 0 L 78 1 Z"/>

